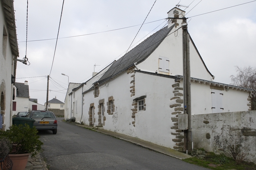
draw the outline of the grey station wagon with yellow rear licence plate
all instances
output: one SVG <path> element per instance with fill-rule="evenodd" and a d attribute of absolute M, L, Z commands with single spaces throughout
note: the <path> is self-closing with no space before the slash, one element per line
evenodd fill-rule
<path fill-rule="evenodd" d="M 57 133 L 57 120 L 54 113 L 49 111 L 30 111 L 25 116 L 34 119 L 34 126 L 37 130 L 52 130 L 53 134 Z"/>

